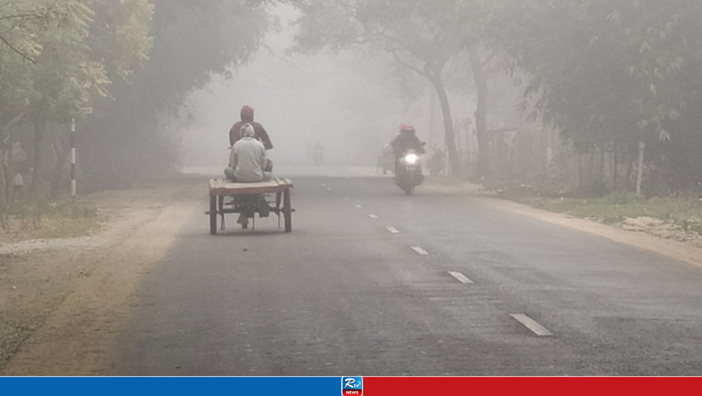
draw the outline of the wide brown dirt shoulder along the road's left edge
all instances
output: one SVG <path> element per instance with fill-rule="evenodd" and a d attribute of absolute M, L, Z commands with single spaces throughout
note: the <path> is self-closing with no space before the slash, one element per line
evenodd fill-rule
<path fill-rule="evenodd" d="M 93 194 L 107 219 L 101 231 L 0 255 L 0 374 L 101 374 L 141 275 L 201 209 L 198 187 Z"/>

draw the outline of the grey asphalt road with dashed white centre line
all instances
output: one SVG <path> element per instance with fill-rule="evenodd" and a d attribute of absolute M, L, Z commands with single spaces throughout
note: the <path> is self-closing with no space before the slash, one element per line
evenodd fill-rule
<path fill-rule="evenodd" d="M 702 374 L 698 268 L 390 178 L 293 179 L 290 234 L 192 216 L 110 374 Z"/>

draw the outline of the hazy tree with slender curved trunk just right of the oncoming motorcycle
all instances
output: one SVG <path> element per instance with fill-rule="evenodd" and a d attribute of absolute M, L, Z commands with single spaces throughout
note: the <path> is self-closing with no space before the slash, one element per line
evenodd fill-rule
<path fill-rule="evenodd" d="M 297 37 L 301 50 L 366 46 L 392 55 L 399 65 L 431 82 L 442 109 L 451 170 L 460 173 L 443 74 L 453 55 L 465 47 L 466 25 L 453 13 L 462 10 L 461 1 L 442 1 L 440 6 L 420 0 L 310 0 L 295 4 L 303 12 Z"/>

